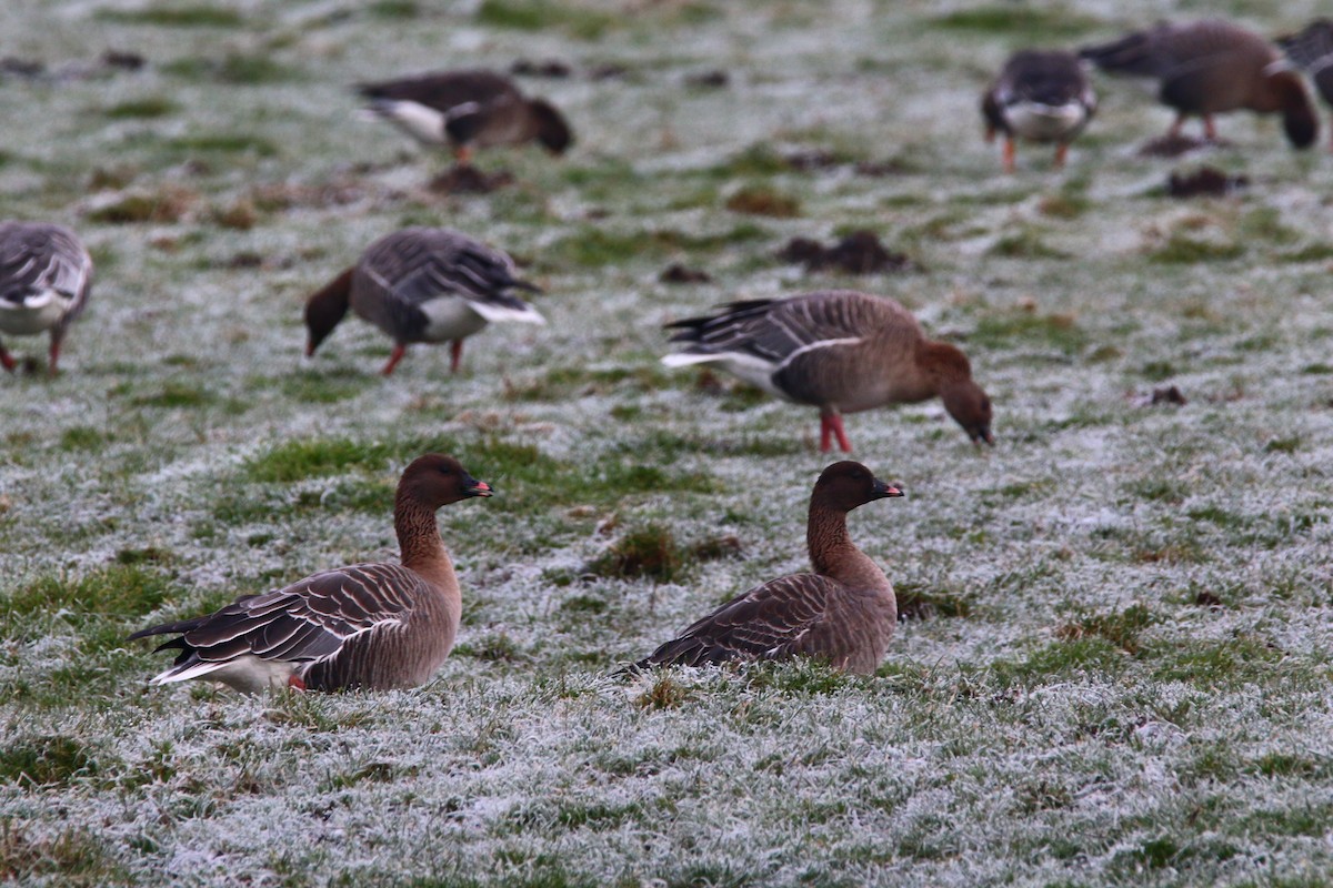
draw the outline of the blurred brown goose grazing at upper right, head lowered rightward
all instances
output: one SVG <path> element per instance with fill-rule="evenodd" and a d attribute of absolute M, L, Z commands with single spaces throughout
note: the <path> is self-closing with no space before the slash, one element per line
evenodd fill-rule
<path fill-rule="evenodd" d="M 1180 136 L 1185 118 L 1204 118 L 1204 134 L 1217 137 L 1213 114 L 1248 109 L 1281 113 L 1286 138 L 1308 148 L 1318 134 L 1305 84 L 1290 71 L 1274 68 L 1277 49 L 1264 37 L 1229 21 L 1160 23 L 1114 43 L 1078 51 L 1113 75 L 1156 77 L 1158 99 L 1176 109 L 1169 136 Z"/>

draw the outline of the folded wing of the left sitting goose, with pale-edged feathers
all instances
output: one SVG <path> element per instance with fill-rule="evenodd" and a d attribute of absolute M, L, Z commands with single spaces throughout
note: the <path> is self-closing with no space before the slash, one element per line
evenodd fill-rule
<path fill-rule="evenodd" d="M 352 564 L 323 571 L 284 588 L 245 595 L 191 620 L 164 623 L 131 639 L 180 632 L 157 650 L 180 648 L 172 668 L 153 682 L 213 671 L 245 655 L 264 660 L 319 662 L 345 642 L 401 626 L 425 582 L 400 564 Z"/>

